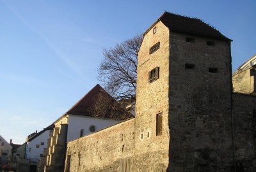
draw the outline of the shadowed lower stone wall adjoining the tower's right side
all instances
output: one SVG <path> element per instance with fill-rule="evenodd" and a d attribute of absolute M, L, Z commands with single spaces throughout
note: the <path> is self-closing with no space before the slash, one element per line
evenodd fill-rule
<path fill-rule="evenodd" d="M 237 172 L 256 170 L 256 96 L 233 94 Z M 253 115 L 254 111 L 254 115 Z"/>

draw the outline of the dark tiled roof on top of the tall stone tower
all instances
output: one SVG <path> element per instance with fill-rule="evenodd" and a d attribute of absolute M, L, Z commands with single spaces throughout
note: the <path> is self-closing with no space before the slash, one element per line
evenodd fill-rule
<path fill-rule="evenodd" d="M 148 30 L 150 30 L 159 21 L 163 22 L 163 24 L 172 32 L 201 36 L 204 38 L 220 39 L 223 41 L 232 41 L 231 39 L 223 36 L 220 31 L 199 18 L 186 17 L 169 13 L 167 11 L 165 11 Z M 147 33 L 148 30 L 145 33 Z"/>

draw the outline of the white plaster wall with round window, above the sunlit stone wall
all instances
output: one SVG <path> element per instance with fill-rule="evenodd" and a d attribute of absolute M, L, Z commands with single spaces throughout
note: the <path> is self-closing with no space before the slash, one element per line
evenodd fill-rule
<path fill-rule="evenodd" d="M 89 128 L 91 125 L 95 125 L 96 131 L 100 129 L 104 129 L 111 125 L 114 125 L 120 120 L 109 120 L 106 118 L 95 118 L 95 117 L 84 117 L 81 115 L 68 115 L 68 134 L 67 134 L 67 142 L 71 140 L 75 140 L 80 138 L 80 131 L 84 129 L 84 135 L 90 134 Z"/>

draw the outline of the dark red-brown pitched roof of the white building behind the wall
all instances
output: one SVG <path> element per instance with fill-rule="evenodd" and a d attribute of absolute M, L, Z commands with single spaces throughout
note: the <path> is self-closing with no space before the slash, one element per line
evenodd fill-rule
<path fill-rule="evenodd" d="M 90 90 L 84 97 L 82 97 L 65 114 L 82 115 L 82 116 L 94 117 L 94 115 L 90 112 L 90 108 L 93 107 L 93 105 L 95 104 L 95 101 L 97 101 L 97 97 L 102 92 L 108 94 L 108 92 L 106 92 L 106 90 L 102 89 L 102 87 L 100 87 L 99 84 L 95 85 L 95 87 L 93 87 L 92 90 Z M 125 117 L 125 119 L 131 118 L 131 117 L 133 117 L 133 116 L 129 116 L 129 117 L 127 116 L 127 117 Z M 112 119 L 112 117 L 108 117 L 108 118 Z M 120 118 L 120 120 L 123 120 L 123 118 Z"/>

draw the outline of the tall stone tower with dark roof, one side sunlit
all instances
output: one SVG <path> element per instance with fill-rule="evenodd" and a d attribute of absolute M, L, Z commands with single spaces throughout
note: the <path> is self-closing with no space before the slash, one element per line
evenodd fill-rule
<path fill-rule="evenodd" d="M 137 154 L 157 150 L 149 156 L 162 159 L 157 164 L 168 171 L 232 170 L 230 41 L 198 18 L 168 12 L 145 32 Z"/>

